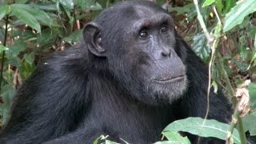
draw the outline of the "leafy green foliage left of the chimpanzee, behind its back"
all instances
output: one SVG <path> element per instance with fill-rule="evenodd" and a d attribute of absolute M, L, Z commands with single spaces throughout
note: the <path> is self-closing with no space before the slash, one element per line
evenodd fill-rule
<path fill-rule="evenodd" d="M 90 10 L 94 10 L 91 12 Z M 102 6 L 93 0 L 3 1 L 0 5 L 0 122 L 4 125 L 18 86 L 46 54 L 81 38 L 82 26 Z M 6 27 L 7 26 L 7 27 Z"/>

